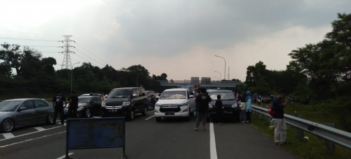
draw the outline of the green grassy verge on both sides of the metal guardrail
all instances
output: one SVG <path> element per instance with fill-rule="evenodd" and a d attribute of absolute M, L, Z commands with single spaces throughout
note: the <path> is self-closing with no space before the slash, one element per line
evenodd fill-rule
<path fill-rule="evenodd" d="M 271 105 L 262 104 L 262 107 L 269 107 Z M 335 123 L 335 128 L 341 129 L 340 123 L 330 114 L 326 113 L 323 108 L 318 105 L 300 105 L 289 103 L 285 108 L 285 114 L 295 115 L 294 112 L 297 112 L 298 115 L 303 115 L 304 119 L 322 123 L 322 122 L 333 122 Z M 262 133 L 269 136 L 272 139 L 274 137 L 274 130 L 269 129 L 267 123 L 267 117 L 259 119 L 258 115 L 252 115 L 252 124 Z M 309 137 L 300 141 L 297 139 L 296 128 L 288 125 L 287 132 L 287 141 L 288 144 L 284 145 L 284 149 L 296 154 L 302 159 L 351 159 L 351 150 L 342 146 L 335 144 L 335 152 L 328 152 L 327 147 L 325 146 L 324 139 L 318 139 L 315 135 L 304 132 L 304 136 Z"/>

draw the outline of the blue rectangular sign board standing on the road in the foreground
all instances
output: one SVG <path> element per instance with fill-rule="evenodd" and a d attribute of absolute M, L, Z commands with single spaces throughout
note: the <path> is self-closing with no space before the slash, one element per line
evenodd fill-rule
<path fill-rule="evenodd" d="M 76 149 L 125 148 L 124 117 L 67 119 L 66 127 L 66 154 Z"/>

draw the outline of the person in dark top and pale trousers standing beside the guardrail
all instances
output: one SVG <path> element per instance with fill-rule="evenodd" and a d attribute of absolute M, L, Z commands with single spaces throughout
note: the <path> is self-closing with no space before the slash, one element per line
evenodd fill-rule
<path fill-rule="evenodd" d="M 272 111 L 274 111 L 272 116 L 274 123 L 274 142 L 277 145 L 284 145 L 287 143 L 287 124 L 284 120 L 284 108 L 289 100 L 286 98 L 284 103 L 282 103 L 282 99 L 286 97 L 286 94 L 287 92 L 285 90 L 281 90 L 272 103 Z"/>

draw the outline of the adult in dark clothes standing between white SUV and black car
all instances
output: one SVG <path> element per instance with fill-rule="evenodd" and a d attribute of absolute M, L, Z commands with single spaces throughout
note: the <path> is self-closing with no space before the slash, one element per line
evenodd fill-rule
<path fill-rule="evenodd" d="M 199 108 L 197 111 L 196 124 L 195 124 L 194 130 L 198 130 L 199 125 L 200 125 L 200 120 L 201 120 L 202 121 L 202 130 L 205 131 L 206 130 L 205 129 L 206 119 L 207 119 L 207 115 L 208 115 L 208 104 L 212 99 L 206 94 L 205 88 L 201 88 L 200 92 L 201 92 L 201 94 L 199 94 L 195 100 L 197 102 Z"/>

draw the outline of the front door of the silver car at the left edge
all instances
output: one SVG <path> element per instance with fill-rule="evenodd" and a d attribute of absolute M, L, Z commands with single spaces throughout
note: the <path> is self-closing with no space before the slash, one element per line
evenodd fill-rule
<path fill-rule="evenodd" d="M 24 101 L 20 108 L 19 114 L 17 115 L 17 122 L 18 125 L 29 125 L 34 123 L 37 118 L 37 111 L 35 109 L 35 105 L 33 100 L 26 100 Z"/>

